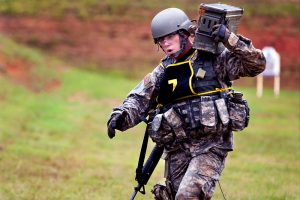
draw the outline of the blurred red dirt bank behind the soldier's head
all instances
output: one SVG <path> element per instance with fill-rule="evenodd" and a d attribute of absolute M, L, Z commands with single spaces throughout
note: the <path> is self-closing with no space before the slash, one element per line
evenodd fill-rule
<path fill-rule="evenodd" d="M 96 63 L 106 69 L 137 69 L 155 66 L 162 56 L 161 52 L 157 53 L 157 47 L 152 43 L 149 24 L 144 23 L 145 21 L 150 22 L 150 18 L 120 22 L 103 19 L 87 21 L 72 16 L 63 20 L 0 16 L 0 32 L 18 42 L 60 56 L 75 65 Z M 299 32 L 297 19 L 292 17 L 244 17 L 239 27 L 239 33 L 251 38 L 255 47 L 275 47 L 282 61 L 281 86 L 293 90 L 299 90 Z M 0 64 L 4 66 L 7 74 L 26 84 L 26 80 L 30 79 L 29 75 L 22 77 L 18 74 L 20 72 L 16 72 L 25 68 L 13 67 L 30 66 L 23 62 L 17 60 L 9 64 L 0 55 Z"/>

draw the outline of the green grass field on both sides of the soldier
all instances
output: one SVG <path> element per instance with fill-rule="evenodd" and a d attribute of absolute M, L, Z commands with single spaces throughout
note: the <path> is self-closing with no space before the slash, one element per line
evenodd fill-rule
<path fill-rule="evenodd" d="M 0 75 L 0 199 L 129 199 L 145 125 L 110 140 L 106 121 L 138 80 L 68 67 L 54 73 L 49 66 L 56 61 L 3 38 L 1 44 L 14 47 L 1 48 L 7 55 L 30 58 L 43 67 L 40 76 L 62 84 L 33 92 Z M 282 91 L 276 99 L 266 90 L 257 99 L 254 88 L 237 90 L 245 92 L 251 121 L 235 134 L 221 177 L 227 199 L 300 199 L 299 92 Z M 150 189 L 162 174 L 160 162 L 146 196 L 136 199 L 152 199 Z M 219 188 L 213 199 L 222 199 Z"/>

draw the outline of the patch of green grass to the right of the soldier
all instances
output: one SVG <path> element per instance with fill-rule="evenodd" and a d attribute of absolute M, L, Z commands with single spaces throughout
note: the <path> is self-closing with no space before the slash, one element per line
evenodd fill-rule
<path fill-rule="evenodd" d="M 235 133 L 222 182 L 229 199 L 299 199 L 299 93 L 270 90 L 261 99 L 245 91 L 250 127 Z M 219 199 L 219 198 L 216 198 Z"/>

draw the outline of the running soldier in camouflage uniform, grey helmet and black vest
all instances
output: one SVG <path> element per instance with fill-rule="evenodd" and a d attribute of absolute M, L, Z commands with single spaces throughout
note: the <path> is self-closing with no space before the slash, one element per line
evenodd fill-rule
<path fill-rule="evenodd" d="M 249 109 L 231 81 L 253 77 L 265 68 L 251 40 L 214 26 L 212 36 L 226 47 L 217 54 L 193 48 L 192 23 L 180 9 L 159 12 L 151 22 L 154 42 L 166 54 L 161 63 L 114 108 L 108 136 L 148 116 L 152 140 L 164 147 L 165 185 L 155 199 L 211 199 L 233 150 L 232 131 L 247 126 Z"/>

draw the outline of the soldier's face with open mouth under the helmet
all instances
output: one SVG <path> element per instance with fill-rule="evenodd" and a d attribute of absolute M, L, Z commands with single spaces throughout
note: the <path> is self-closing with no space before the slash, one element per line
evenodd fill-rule
<path fill-rule="evenodd" d="M 158 43 L 167 56 L 172 56 L 180 50 L 180 39 L 177 33 L 171 33 L 159 38 Z"/>

